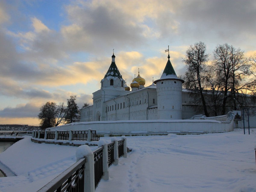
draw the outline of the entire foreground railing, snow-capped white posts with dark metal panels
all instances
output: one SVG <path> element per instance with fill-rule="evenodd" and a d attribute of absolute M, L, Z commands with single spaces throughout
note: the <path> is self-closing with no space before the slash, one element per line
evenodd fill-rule
<path fill-rule="evenodd" d="M 102 139 L 98 141 L 98 149 L 94 151 L 87 145 L 81 145 L 76 150 L 76 163 L 37 192 L 95 192 L 101 178 L 109 179 L 109 161 L 118 164 L 120 156 L 127 157 L 126 138 L 122 136 L 121 139 L 117 141 L 112 138 L 109 144 Z"/>

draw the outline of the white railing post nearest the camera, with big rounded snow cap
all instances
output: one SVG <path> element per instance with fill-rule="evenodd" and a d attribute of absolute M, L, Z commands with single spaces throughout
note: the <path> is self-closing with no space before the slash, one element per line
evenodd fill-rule
<path fill-rule="evenodd" d="M 95 192 L 94 154 L 88 145 L 81 145 L 76 149 L 76 162 L 86 158 L 84 169 L 84 191 Z"/>

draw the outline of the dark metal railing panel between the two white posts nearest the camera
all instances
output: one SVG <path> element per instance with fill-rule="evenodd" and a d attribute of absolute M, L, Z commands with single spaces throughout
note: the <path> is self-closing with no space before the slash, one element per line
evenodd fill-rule
<path fill-rule="evenodd" d="M 103 176 L 103 147 L 98 148 L 93 152 L 94 154 L 94 182 L 95 188 L 98 186 L 102 176 Z"/>

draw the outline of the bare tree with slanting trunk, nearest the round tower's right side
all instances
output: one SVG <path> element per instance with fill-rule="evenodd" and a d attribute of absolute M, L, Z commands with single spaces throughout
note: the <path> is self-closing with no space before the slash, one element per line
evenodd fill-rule
<path fill-rule="evenodd" d="M 190 45 L 186 51 L 183 62 L 186 64 L 187 71 L 184 75 L 185 86 L 193 92 L 200 94 L 204 114 L 209 116 L 204 98 L 202 83 L 207 78 L 207 62 L 209 54 L 206 54 L 206 45 L 203 42 Z"/>

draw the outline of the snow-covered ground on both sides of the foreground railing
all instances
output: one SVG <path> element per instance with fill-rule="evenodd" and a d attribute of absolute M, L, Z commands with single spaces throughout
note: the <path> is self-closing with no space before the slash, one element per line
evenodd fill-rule
<path fill-rule="evenodd" d="M 256 129 L 250 135 L 236 129 L 126 138 L 132 152 L 110 166 L 110 179 L 101 180 L 96 192 L 256 191 Z M 76 149 L 36 144 L 29 137 L 13 144 L 0 154 L 0 161 L 18 176 L 0 178 L 0 191 L 38 190 L 76 162 Z"/>

